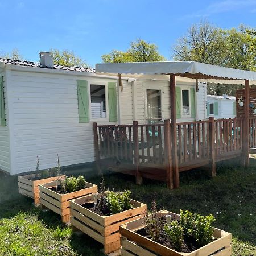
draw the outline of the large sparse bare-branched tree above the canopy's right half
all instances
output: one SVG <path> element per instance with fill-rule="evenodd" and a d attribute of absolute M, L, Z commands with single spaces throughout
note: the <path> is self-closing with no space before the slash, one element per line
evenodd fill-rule
<path fill-rule="evenodd" d="M 223 32 L 208 22 L 194 24 L 174 46 L 174 60 L 222 65 L 225 62 Z"/>

